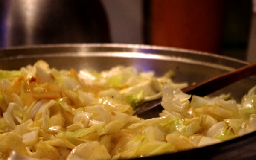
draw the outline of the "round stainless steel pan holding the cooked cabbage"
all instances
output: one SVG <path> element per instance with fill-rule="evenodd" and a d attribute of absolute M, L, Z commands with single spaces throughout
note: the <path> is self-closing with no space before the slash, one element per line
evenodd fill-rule
<path fill-rule="evenodd" d="M 116 65 L 134 66 L 139 70 L 154 70 L 162 75 L 168 70 L 176 74 L 175 82 L 192 84 L 247 65 L 247 62 L 205 52 L 134 44 L 55 44 L 0 49 L 0 69 L 15 70 L 37 60 L 50 67 L 77 70 L 106 70 Z M 256 77 L 236 82 L 210 96 L 231 93 L 238 102 L 256 85 Z M 143 159 L 211 159 L 245 160 L 256 158 L 256 133 L 189 151 Z"/>

